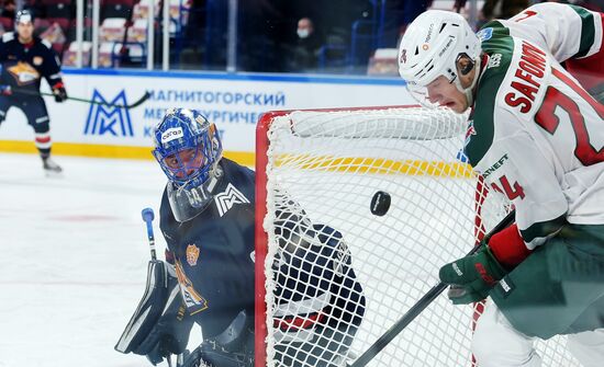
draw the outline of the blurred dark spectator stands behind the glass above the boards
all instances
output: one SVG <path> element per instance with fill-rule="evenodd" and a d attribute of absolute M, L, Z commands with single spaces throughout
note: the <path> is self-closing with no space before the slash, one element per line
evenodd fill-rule
<path fill-rule="evenodd" d="M 172 69 L 224 70 L 228 0 L 101 0 L 100 67 L 144 67 L 147 4 L 155 2 L 155 56 L 161 56 L 164 2 L 170 7 Z M 478 1 L 477 27 L 507 19 L 539 1 Z M 604 0 L 572 3 L 602 11 Z M 0 33 L 12 28 L 19 7 L 34 11 L 38 34 L 74 62 L 74 1 L 0 0 Z M 85 39 L 91 35 L 91 0 L 86 0 Z M 395 74 L 395 47 L 405 27 L 427 9 L 469 14 L 468 0 L 239 0 L 236 69 L 256 72 L 335 72 Z"/>

